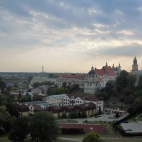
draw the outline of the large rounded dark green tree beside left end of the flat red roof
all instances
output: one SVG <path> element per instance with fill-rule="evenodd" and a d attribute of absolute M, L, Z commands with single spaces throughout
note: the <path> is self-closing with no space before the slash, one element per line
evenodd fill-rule
<path fill-rule="evenodd" d="M 32 140 L 38 142 L 53 142 L 60 134 L 60 128 L 55 118 L 47 112 L 35 113 L 29 122 Z"/>

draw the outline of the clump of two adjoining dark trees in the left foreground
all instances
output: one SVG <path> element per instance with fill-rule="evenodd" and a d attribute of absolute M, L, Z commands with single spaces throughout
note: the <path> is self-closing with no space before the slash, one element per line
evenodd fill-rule
<path fill-rule="evenodd" d="M 23 142 L 28 134 L 34 142 L 53 142 L 60 134 L 60 128 L 50 113 L 39 112 L 30 118 L 18 117 L 11 128 L 9 140 Z"/>

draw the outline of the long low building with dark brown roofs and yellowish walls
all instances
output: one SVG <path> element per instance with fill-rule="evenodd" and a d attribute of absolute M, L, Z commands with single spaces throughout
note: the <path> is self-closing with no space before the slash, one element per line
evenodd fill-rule
<path fill-rule="evenodd" d="M 36 112 L 49 112 L 54 117 L 61 117 L 63 114 L 68 117 L 71 112 L 77 112 L 78 114 L 85 111 L 87 116 L 96 113 L 96 105 L 93 103 L 81 104 L 81 105 L 69 105 L 69 106 L 57 106 L 49 105 L 46 102 L 26 102 L 26 103 L 13 103 L 15 108 L 18 109 L 21 116 L 30 116 Z"/>

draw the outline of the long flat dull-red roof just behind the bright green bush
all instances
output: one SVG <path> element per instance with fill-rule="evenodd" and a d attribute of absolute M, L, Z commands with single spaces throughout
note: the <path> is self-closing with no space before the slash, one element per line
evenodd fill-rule
<path fill-rule="evenodd" d="M 106 127 L 100 124 L 63 124 L 59 123 L 59 126 L 64 129 L 76 128 L 76 129 L 84 129 L 85 132 L 95 131 L 98 134 L 106 134 Z"/>

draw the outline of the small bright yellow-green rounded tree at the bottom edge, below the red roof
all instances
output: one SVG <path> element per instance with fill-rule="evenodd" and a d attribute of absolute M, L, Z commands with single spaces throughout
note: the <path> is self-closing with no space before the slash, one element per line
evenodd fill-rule
<path fill-rule="evenodd" d="M 84 136 L 83 142 L 101 142 L 101 138 L 97 133 L 91 131 Z"/>

